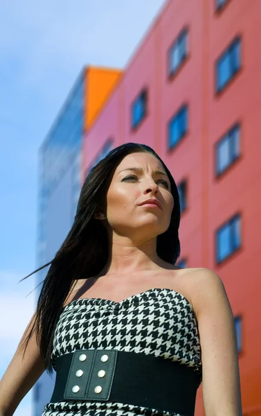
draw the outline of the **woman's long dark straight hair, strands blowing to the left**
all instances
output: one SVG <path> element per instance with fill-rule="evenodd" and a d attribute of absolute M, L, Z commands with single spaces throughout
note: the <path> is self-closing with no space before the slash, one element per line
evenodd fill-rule
<path fill-rule="evenodd" d="M 170 171 L 150 146 L 127 143 L 114 148 L 91 169 L 84 180 L 73 225 L 54 259 L 30 273 L 33 275 L 51 265 L 44 281 L 41 282 L 43 285 L 37 301 L 33 327 L 24 338 L 23 343 L 26 349 L 30 337 L 36 331 L 37 344 L 49 375 L 53 373 L 51 353 L 55 326 L 64 302 L 73 290 L 73 283 L 78 279 L 87 279 L 98 275 L 107 263 L 109 252 L 107 230 L 102 222 L 94 219 L 93 216 L 101 208 L 106 212 L 107 190 L 116 167 L 125 156 L 136 152 L 154 155 L 168 174 L 174 207 L 170 226 L 167 231 L 157 236 L 156 252 L 161 259 L 173 265 L 179 258 L 179 193 Z"/>

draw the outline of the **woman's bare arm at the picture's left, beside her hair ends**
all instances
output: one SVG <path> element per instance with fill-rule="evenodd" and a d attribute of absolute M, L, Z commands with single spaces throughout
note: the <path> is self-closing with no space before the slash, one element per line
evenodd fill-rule
<path fill-rule="evenodd" d="M 34 317 L 35 315 L 31 318 L 17 351 L 0 381 L 0 416 L 12 416 L 15 413 L 21 400 L 45 370 L 35 333 L 30 338 L 24 358 L 24 349 L 21 349 L 21 342 L 30 330 Z"/>

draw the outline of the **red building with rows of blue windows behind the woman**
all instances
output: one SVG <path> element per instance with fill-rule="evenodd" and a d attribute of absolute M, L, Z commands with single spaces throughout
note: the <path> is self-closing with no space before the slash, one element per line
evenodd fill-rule
<path fill-rule="evenodd" d="M 129 141 L 152 146 L 170 168 L 181 198 L 177 264 L 210 268 L 224 282 L 247 416 L 261 416 L 260 35 L 258 0 L 166 1 L 93 112 L 80 150 L 81 184 Z M 51 236 L 60 209 L 49 200 Z M 204 415 L 202 385 L 195 415 Z"/>

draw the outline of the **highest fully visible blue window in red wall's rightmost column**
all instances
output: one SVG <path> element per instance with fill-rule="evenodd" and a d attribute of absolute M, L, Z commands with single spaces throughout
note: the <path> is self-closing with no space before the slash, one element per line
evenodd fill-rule
<path fill-rule="evenodd" d="M 237 37 L 217 60 L 216 91 L 221 92 L 241 67 L 241 40 Z"/>

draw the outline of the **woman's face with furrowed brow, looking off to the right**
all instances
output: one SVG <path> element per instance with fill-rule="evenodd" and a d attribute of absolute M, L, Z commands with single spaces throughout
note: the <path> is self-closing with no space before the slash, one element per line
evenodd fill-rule
<path fill-rule="evenodd" d="M 141 205 L 148 198 L 156 198 L 161 208 Z M 170 225 L 173 205 L 170 180 L 156 157 L 131 153 L 120 162 L 107 192 L 107 221 L 116 234 L 139 241 L 162 234 Z"/>

